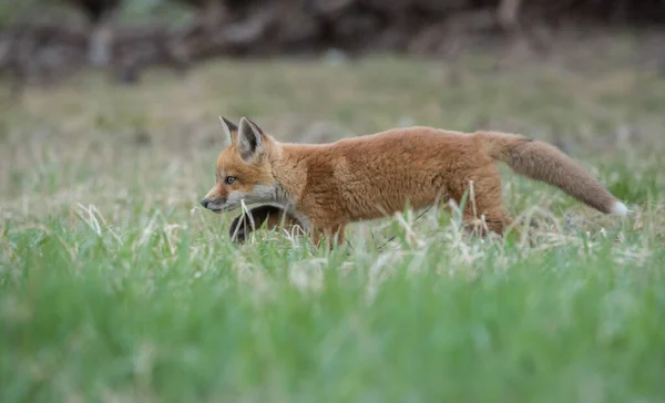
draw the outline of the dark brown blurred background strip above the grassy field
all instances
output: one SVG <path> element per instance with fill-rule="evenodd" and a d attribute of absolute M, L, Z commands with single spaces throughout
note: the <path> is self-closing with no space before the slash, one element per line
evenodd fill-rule
<path fill-rule="evenodd" d="M 665 70 L 664 28 L 663 0 L 3 0 L 0 70 L 18 89 L 85 66 L 135 83 L 217 56 L 597 55 L 617 32 L 640 37 L 635 62 Z"/>

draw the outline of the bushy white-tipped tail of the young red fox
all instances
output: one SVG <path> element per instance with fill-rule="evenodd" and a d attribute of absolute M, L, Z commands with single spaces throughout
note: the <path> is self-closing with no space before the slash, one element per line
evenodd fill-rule
<path fill-rule="evenodd" d="M 625 204 L 555 146 L 515 134 L 480 132 L 481 146 L 514 173 L 559 187 L 570 196 L 605 214 L 626 215 Z"/>

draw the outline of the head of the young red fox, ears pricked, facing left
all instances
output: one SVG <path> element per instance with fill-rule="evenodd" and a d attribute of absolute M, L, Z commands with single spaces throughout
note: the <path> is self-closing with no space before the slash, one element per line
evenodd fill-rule
<path fill-rule="evenodd" d="M 217 157 L 215 185 L 201 200 L 214 213 L 231 211 L 246 204 L 275 202 L 277 180 L 270 152 L 276 142 L 258 125 L 243 117 L 238 126 L 219 116 L 226 147 Z"/>

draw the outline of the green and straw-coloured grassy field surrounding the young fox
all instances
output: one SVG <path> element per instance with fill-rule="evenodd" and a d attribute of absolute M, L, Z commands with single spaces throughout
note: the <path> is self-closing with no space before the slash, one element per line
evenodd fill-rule
<path fill-rule="evenodd" d="M 6 97 L 0 401 L 665 401 L 665 79 L 594 62 L 221 61 Z M 266 231 L 235 246 L 237 213 L 198 206 L 219 114 L 306 142 L 520 132 L 635 214 L 505 170 L 523 237 L 407 211 L 349 227 L 334 252 Z"/>

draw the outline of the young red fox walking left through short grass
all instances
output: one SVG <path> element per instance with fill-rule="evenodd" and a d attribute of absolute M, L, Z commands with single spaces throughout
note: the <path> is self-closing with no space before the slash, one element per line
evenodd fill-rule
<path fill-rule="evenodd" d="M 474 203 L 466 204 L 463 221 L 484 216 L 485 228 L 503 235 L 511 218 L 502 207 L 497 162 L 602 213 L 630 213 L 559 148 L 516 134 L 416 126 L 328 144 L 293 144 L 278 142 L 247 117 L 238 126 L 222 116 L 219 121 L 226 146 L 217 157 L 215 185 L 202 206 L 219 214 L 237 209 L 243 202 L 277 204 L 282 208 L 262 206 L 250 211 L 257 227 L 298 225 L 317 246 L 324 238 L 331 248 L 341 244 L 349 223 L 407 207 L 421 209 L 449 200 L 459 205 L 470 182 Z M 234 220 L 233 230 L 241 218 Z"/>

